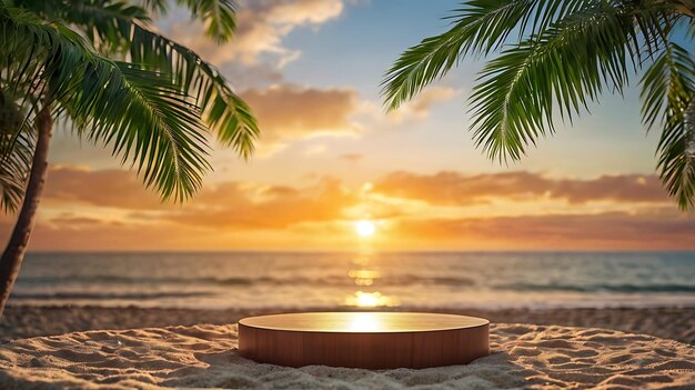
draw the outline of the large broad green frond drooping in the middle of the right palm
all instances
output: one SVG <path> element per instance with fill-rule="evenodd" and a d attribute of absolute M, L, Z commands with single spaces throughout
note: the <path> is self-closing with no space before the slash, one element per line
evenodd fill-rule
<path fill-rule="evenodd" d="M 554 131 L 553 110 L 572 121 L 608 86 L 621 91 L 634 60 L 632 17 L 602 2 L 491 60 L 471 96 L 472 130 L 490 158 L 520 159 Z"/>

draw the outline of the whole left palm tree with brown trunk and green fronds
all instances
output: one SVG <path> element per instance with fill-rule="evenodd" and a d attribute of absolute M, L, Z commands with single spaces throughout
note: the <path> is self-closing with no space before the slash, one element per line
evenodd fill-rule
<path fill-rule="evenodd" d="M 218 42 L 233 0 L 178 0 Z M 19 210 L 0 258 L 0 314 L 27 251 L 53 122 L 108 146 L 163 200 L 182 202 L 210 168 L 208 134 L 248 158 L 249 107 L 192 50 L 151 28 L 168 0 L 0 0 L 0 206 Z M 20 208 L 21 204 L 21 208 Z"/>

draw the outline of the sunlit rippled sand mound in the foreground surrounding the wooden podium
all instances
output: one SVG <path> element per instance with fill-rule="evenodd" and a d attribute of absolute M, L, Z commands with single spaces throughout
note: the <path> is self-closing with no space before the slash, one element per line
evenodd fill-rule
<path fill-rule="evenodd" d="M 291 369 L 236 353 L 236 326 L 89 331 L 0 346 L 1 389 L 695 388 L 695 348 L 605 329 L 496 324 L 493 353 L 425 370 Z"/>

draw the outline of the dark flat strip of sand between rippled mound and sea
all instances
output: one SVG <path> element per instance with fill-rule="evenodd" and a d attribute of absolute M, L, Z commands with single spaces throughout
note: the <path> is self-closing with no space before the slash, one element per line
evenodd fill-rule
<path fill-rule="evenodd" d="M 483 317 L 493 323 L 531 323 L 602 328 L 655 336 L 695 344 L 695 308 L 606 308 L 606 309 L 446 309 L 427 308 L 335 308 L 336 311 L 429 311 Z M 243 317 L 322 309 L 175 309 L 95 306 L 8 306 L 0 318 L 0 342 L 88 330 L 123 330 L 193 326 L 231 324 Z"/>

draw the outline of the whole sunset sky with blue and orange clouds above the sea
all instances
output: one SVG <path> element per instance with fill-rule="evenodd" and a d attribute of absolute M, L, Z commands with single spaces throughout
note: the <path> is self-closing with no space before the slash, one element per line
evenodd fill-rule
<path fill-rule="evenodd" d="M 160 204 L 110 150 L 59 127 L 34 250 L 695 249 L 695 218 L 654 174 L 657 132 L 638 91 L 605 94 L 521 163 L 475 149 L 466 99 L 481 59 L 385 114 L 384 71 L 446 28 L 456 1 L 246 1 L 215 47 L 175 10 L 158 28 L 216 64 L 262 128 L 244 162 L 215 147 L 214 172 L 183 206 Z M 369 238 L 355 222 L 373 221 Z M 0 218 L 4 240 L 13 216 Z"/>

